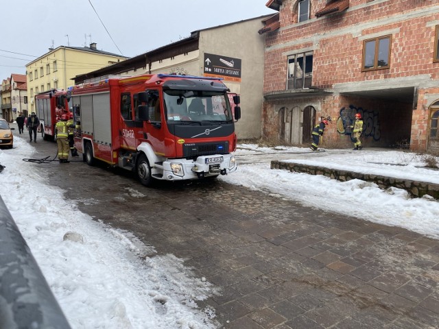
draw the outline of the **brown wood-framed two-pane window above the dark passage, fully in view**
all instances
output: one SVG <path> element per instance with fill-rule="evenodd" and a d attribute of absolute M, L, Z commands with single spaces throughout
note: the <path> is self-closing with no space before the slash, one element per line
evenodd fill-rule
<path fill-rule="evenodd" d="M 380 36 L 363 42 L 363 71 L 388 69 L 392 36 Z"/>

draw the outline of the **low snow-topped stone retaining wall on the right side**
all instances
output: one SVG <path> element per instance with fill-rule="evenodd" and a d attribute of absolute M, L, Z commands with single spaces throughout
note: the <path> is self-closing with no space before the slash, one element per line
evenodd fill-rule
<path fill-rule="evenodd" d="M 403 188 L 414 197 L 423 197 L 430 195 L 435 199 L 439 199 L 439 184 L 431 184 L 426 182 L 417 182 L 414 180 L 401 180 L 399 178 L 383 177 L 379 175 L 370 175 L 364 173 L 355 173 L 353 171 L 344 171 L 339 169 L 329 169 L 325 167 L 311 166 L 309 164 L 298 164 L 294 162 L 283 162 L 273 160 L 270 165 L 271 169 L 286 169 L 296 171 L 297 173 L 309 173 L 310 175 L 324 175 L 333 180 L 347 182 L 355 178 L 366 182 L 374 182 L 379 188 L 390 188 L 392 186 Z"/>

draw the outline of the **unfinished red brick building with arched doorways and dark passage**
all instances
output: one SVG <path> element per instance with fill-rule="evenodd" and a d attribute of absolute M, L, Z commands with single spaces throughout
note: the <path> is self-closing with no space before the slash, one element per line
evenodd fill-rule
<path fill-rule="evenodd" d="M 323 146 L 439 151 L 439 2 L 270 0 L 263 136 L 294 144 L 329 117 Z"/>

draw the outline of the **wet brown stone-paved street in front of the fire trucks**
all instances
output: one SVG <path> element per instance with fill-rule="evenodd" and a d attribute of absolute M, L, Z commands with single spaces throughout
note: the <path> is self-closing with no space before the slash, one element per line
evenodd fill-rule
<path fill-rule="evenodd" d="M 56 154 L 55 143 L 34 146 L 33 158 Z M 198 305 L 219 328 L 439 327 L 437 240 L 220 180 L 145 188 L 77 159 L 35 166 L 82 212 L 214 284 Z"/>

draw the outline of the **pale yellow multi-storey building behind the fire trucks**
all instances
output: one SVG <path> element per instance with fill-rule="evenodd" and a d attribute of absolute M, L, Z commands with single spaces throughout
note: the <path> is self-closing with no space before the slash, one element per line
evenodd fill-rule
<path fill-rule="evenodd" d="M 96 43 L 90 47 L 60 46 L 26 65 L 29 112 L 35 110 L 34 96 L 51 89 L 73 86 L 76 75 L 95 71 L 126 60 L 127 57 L 98 50 Z"/>

